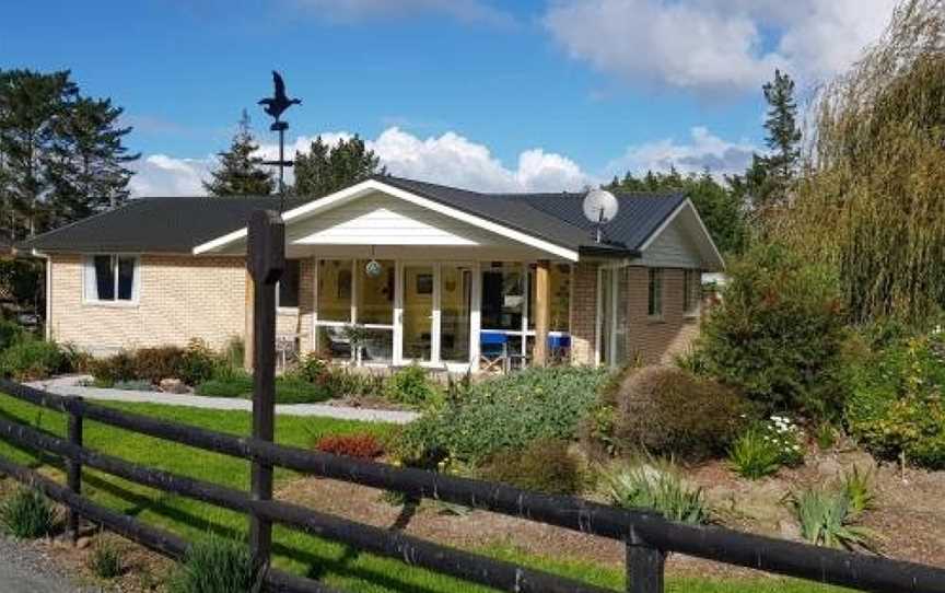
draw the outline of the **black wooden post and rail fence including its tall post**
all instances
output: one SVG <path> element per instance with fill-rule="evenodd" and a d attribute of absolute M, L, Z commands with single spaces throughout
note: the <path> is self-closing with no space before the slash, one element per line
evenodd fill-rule
<path fill-rule="evenodd" d="M 0 474 L 35 487 L 65 505 L 69 511 L 67 528 L 72 537 L 78 533 L 79 519 L 82 518 L 175 559 L 186 554 L 189 545 L 186 540 L 83 497 L 82 469 L 93 468 L 164 492 L 245 514 L 249 518 L 250 553 L 257 566 L 264 570 L 267 591 L 335 591 L 315 580 L 269 568 L 273 524 L 500 591 L 605 591 L 540 570 L 361 524 L 291 502 L 273 500 L 272 469 L 281 467 L 300 474 L 392 490 L 413 498 L 441 500 L 621 542 L 627 550 L 626 590 L 632 593 L 657 593 L 664 590 L 665 560 L 670 553 L 859 591 L 945 593 L 945 570 L 940 568 L 815 547 L 719 526 L 673 523 L 654 513 L 618 509 L 580 498 L 529 492 L 502 484 L 276 444 L 272 439 L 273 375 L 266 372 L 266 369 L 267 365 L 271 365 L 268 367 L 269 371 L 275 368 L 275 287 L 284 260 L 283 232 L 281 221 L 275 213 L 257 212 L 250 220 L 248 259 L 255 284 L 254 359 L 257 364 L 250 437 L 236 437 L 121 411 L 89 403 L 80 397 L 60 396 L 0 379 L 0 393 L 68 416 L 65 439 L 0 417 L 0 440 L 65 460 L 65 486 L 2 456 Z M 89 449 L 82 440 L 83 422 L 86 420 L 246 460 L 252 464 L 250 489 L 246 492 L 147 467 Z"/>

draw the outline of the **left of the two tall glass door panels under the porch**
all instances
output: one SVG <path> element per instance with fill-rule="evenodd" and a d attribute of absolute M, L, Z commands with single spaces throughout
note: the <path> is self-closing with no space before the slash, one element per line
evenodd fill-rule
<path fill-rule="evenodd" d="M 401 352 L 406 362 L 430 362 L 434 347 L 435 269 L 429 264 L 405 264 Z"/>

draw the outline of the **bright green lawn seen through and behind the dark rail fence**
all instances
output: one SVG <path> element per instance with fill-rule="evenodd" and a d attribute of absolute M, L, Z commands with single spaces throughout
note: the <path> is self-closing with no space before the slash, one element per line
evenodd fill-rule
<path fill-rule="evenodd" d="M 113 407 L 147 414 L 234 434 L 248 434 L 250 415 L 244 411 L 218 411 L 161 406 L 153 404 L 114 404 Z M 65 433 L 65 417 L 61 414 L 40 410 L 28 404 L 0 395 L 0 416 L 39 427 L 56 434 Z M 276 437 L 280 443 L 307 447 L 319 435 L 369 431 L 378 437 L 389 433 L 390 426 L 372 425 L 326 418 L 279 417 Z M 88 446 L 105 451 L 136 463 L 159 467 L 170 472 L 201 478 L 233 488 L 246 489 L 249 481 L 249 464 L 242 460 L 196 450 L 185 445 L 130 433 L 105 427 L 97 422 L 85 423 Z M 61 470 L 54 460 L 38 460 L 35 455 L 0 442 L 0 455 L 18 463 L 43 465 L 44 472 L 61 478 Z M 291 478 L 290 472 L 278 472 L 277 480 Z M 83 474 L 85 496 L 96 502 L 137 516 L 149 524 L 174 531 L 187 538 L 199 537 L 208 531 L 243 537 L 246 519 L 231 511 L 201 502 L 166 495 L 106 476 L 95 470 Z M 501 534 L 497 534 L 501 535 Z M 488 591 L 456 579 L 427 570 L 405 567 L 388 558 L 359 554 L 347 546 L 326 542 L 305 534 L 277 527 L 275 563 L 277 567 L 322 579 L 345 591 L 359 592 L 428 592 L 452 593 L 460 591 Z M 498 539 L 498 537 L 497 537 Z M 623 573 L 611 567 L 591 562 L 564 561 L 551 558 L 524 556 L 520 551 L 492 546 L 479 550 L 493 557 L 515 561 L 535 568 L 582 579 L 614 590 L 623 590 Z M 696 593 L 801 593 L 835 592 L 832 588 L 780 579 L 707 581 L 669 578 L 667 590 Z"/>

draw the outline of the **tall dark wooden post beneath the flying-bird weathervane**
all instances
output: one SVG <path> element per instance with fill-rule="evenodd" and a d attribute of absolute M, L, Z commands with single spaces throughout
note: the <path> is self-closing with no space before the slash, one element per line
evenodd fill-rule
<path fill-rule="evenodd" d="M 271 210 L 249 218 L 246 263 L 253 277 L 253 438 L 272 442 L 276 416 L 276 283 L 285 269 L 285 225 Z M 248 345 L 247 345 L 248 346 Z M 250 498 L 272 499 L 272 464 L 253 460 Z M 249 549 L 257 570 L 269 568 L 272 523 L 249 515 Z"/>

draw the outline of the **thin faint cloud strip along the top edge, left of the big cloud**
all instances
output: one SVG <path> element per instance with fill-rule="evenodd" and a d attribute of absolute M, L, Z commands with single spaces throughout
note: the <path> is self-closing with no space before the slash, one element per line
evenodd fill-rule
<path fill-rule="evenodd" d="M 459 21 L 506 25 L 512 16 L 483 0 L 292 0 L 322 19 L 355 22 L 434 13 Z"/>

